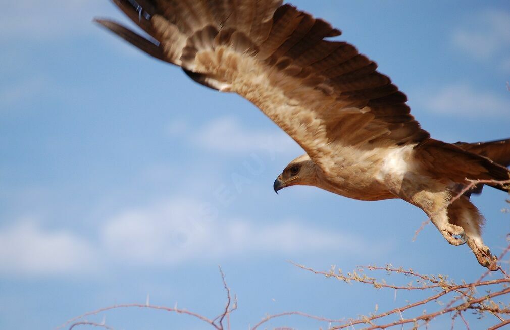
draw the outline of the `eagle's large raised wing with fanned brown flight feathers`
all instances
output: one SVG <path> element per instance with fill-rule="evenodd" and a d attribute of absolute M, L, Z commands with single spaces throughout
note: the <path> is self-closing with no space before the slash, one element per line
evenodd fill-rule
<path fill-rule="evenodd" d="M 112 1 L 150 37 L 99 23 L 200 84 L 245 97 L 325 172 L 349 149 L 429 136 L 374 62 L 328 40 L 341 32 L 282 0 Z"/>

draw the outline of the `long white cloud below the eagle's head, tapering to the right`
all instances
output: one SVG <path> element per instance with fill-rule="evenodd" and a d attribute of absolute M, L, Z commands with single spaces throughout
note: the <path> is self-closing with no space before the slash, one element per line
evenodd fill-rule
<path fill-rule="evenodd" d="M 101 229 L 101 240 L 113 259 L 136 265 L 362 250 L 361 242 L 348 235 L 298 222 L 255 224 L 217 215 L 197 201 L 163 201 L 113 217 Z"/>

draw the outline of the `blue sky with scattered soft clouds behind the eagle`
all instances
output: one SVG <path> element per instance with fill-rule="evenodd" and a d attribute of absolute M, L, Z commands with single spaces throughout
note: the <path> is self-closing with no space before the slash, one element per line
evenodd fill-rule
<path fill-rule="evenodd" d="M 436 139 L 510 136 L 506 1 L 293 3 L 377 61 Z M 483 271 L 433 226 L 412 242 L 426 217 L 405 202 L 312 187 L 276 196 L 272 182 L 300 148 L 242 98 L 202 88 L 100 30 L 94 16 L 125 21 L 110 2 L 2 7 L 0 328 L 55 328 L 147 295 L 212 316 L 224 304 L 218 265 L 239 297 L 235 328 L 266 313 L 348 318 L 419 297 L 394 301 L 392 291 L 323 279 L 288 260 L 318 270 L 391 263 L 467 281 Z M 474 198 L 495 253 L 510 231 L 504 200 L 494 189 Z M 106 320 L 119 329 L 202 326 L 147 311 Z M 325 326 L 269 326 L 282 325 Z"/>

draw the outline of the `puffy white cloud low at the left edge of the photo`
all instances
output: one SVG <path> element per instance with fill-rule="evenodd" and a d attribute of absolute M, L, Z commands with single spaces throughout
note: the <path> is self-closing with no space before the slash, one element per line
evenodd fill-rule
<path fill-rule="evenodd" d="M 92 244 L 73 233 L 34 221 L 0 230 L 0 273 L 22 276 L 89 274 L 96 269 Z"/>

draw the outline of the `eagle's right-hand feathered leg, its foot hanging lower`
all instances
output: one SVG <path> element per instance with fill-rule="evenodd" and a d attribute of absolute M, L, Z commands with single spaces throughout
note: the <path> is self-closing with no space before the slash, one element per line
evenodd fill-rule
<path fill-rule="evenodd" d="M 485 219 L 469 199 L 462 196 L 453 202 L 448 207 L 448 217 L 450 223 L 464 229 L 468 237 L 467 244 L 480 265 L 493 271 L 497 270 L 497 258 L 492 255 L 491 250 L 481 238 L 481 227 Z"/>

